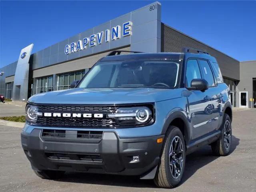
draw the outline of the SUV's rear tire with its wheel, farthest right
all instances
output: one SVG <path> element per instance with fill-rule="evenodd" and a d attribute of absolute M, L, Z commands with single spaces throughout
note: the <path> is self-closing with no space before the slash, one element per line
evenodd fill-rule
<path fill-rule="evenodd" d="M 228 142 L 228 145 L 227 145 Z M 216 156 L 227 156 L 230 152 L 232 144 L 232 127 L 231 120 L 228 114 L 224 114 L 221 125 L 220 138 L 211 144 L 212 152 Z"/>

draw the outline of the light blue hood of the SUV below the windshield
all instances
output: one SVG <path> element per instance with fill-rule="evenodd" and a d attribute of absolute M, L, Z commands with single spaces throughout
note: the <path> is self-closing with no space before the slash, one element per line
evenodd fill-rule
<path fill-rule="evenodd" d="M 130 104 L 158 102 L 181 97 L 178 89 L 74 88 L 36 94 L 28 102 L 38 104 Z"/>

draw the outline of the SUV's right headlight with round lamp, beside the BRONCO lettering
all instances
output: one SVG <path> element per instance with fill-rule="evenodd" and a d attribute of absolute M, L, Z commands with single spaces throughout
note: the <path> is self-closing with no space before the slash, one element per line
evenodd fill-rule
<path fill-rule="evenodd" d="M 148 107 L 118 108 L 108 117 L 115 118 L 120 125 L 145 125 L 152 120 L 152 112 Z"/>

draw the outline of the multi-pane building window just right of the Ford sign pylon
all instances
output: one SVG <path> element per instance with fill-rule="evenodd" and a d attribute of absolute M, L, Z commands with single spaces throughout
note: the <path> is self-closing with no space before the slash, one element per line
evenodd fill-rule
<path fill-rule="evenodd" d="M 36 93 L 53 91 L 52 76 L 36 78 Z"/>

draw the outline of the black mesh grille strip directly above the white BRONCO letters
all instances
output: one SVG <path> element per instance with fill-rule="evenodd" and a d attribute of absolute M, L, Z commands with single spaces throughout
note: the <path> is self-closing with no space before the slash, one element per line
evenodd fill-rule
<path fill-rule="evenodd" d="M 112 113 L 117 110 L 116 106 L 91 106 L 91 105 L 39 105 L 39 111 L 44 112 L 101 112 Z"/>

